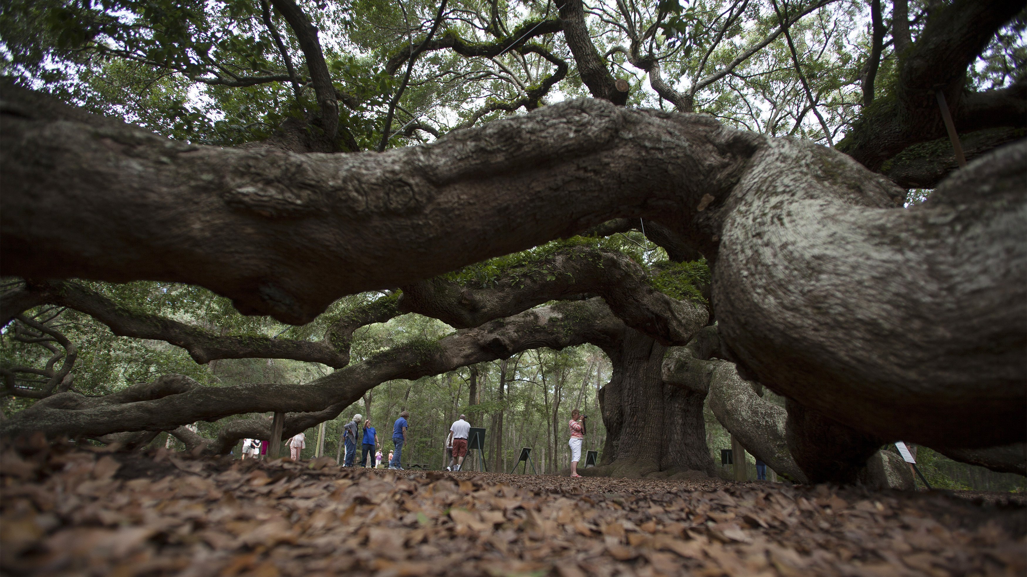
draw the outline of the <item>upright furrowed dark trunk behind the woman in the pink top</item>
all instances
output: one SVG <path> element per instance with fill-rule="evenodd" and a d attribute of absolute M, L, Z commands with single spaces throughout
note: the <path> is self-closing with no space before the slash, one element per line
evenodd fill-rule
<path fill-rule="evenodd" d="M 667 347 L 627 329 L 617 346 L 605 350 L 613 363 L 600 397 L 606 441 L 600 466 L 578 472 L 626 477 L 687 470 L 713 474 L 702 419 L 706 392 L 664 385 Z"/>

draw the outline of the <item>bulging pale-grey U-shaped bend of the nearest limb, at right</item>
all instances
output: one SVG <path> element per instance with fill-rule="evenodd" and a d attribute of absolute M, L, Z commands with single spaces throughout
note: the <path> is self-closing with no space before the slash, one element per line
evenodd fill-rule
<path fill-rule="evenodd" d="M 882 439 L 1023 440 L 1027 146 L 972 162 L 909 209 L 891 208 L 883 177 L 821 147 L 775 141 L 754 163 L 713 277 L 744 376 Z"/>

